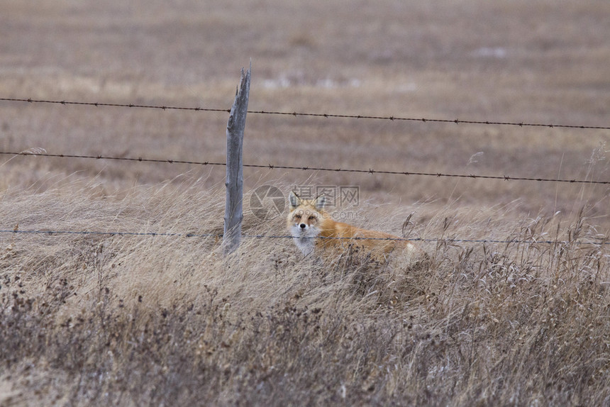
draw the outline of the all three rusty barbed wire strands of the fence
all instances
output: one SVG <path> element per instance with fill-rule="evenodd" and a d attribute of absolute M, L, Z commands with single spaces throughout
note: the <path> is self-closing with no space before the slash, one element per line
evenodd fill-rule
<path fill-rule="evenodd" d="M 158 109 L 162 111 L 201 111 L 201 112 L 223 112 L 230 113 L 230 108 L 201 108 L 188 106 L 160 106 L 148 104 L 116 104 L 106 102 L 89 102 L 89 101 L 60 101 L 60 100 L 44 100 L 44 99 L 23 99 L 23 98 L 0 98 L 0 101 L 5 102 L 25 102 L 28 104 L 57 104 L 62 106 L 94 106 L 94 107 L 113 107 L 113 108 L 146 108 Z M 278 116 L 303 116 L 317 118 L 349 118 L 349 119 L 370 119 L 370 120 L 387 120 L 387 121 L 416 121 L 421 123 L 454 123 L 482 125 L 482 126 L 518 126 L 518 127 L 544 127 L 544 128 L 567 128 L 579 130 L 610 130 L 610 126 L 592 126 L 592 125 L 569 125 L 569 124 L 552 124 L 552 123 L 527 123 L 527 122 L 510 122 L 510 121 L 482 121 L 482 120 L 462 120 L 462 119 L 445 119 L 445 118 L 412 118 L 401 116 L 370 116 L 370 115 L 350 115 L 338 113 L 304 113 L 304 112 L 285 112 L 285 111 L 247 111 L 251 114 L 266 114 Z M 21 152 L 15 151 L 0 151 L 0 155 L 9 155 L 13 157 L 55 157 L 63 159 L 85 159 L 85 160 L 113 160 L 126 162 L 148 162 L 153 164 L 182 164 L 182 165 L 197 165 L 197 166 L 225 166 L 226 162 L 210 162 L 210 161 L 191 161 L 179 160 L 174 158 L 153 159 L 146 157 L 113 157 L 108 155 L 76 155 L 70 153 L 48 153 L 45 150 L 26 150 Z M 526 182 L 555 182 L 555 183 L 570 183 L 570 184 L 600 184 L 608 185 L 610 181 L 599 181 L 593 179 L 553 179 L 543 177 L 512 177 L 508 175 L 477 175 L 477 174 L 447 174 L 441 172 L 407 172 L 407 171 L 386 171 L 379 169 L 362 169 L 362 168 L 329 168 L 329 167 L 309 167 L 309 166 L 290 166 L 281 164 L 243 164 L 243 167 L 257 169 L 293 169 L 303 171 L 318 171 L 318 172 L 352 172 L 362 174 L 383 174 L 383 175 L 401 175 L 401 176 L 421 176 L 421 177 L 452 177 L 452 178 L 470 178 L 470 179 L 496 179 L 504 181 L 526 181 Z M 45 236 L 60 236 L 60 235 L 106 235 L 106 236 L 140 236 L 140 237 L 172 237 L 172 238 L 216 238 L 222 239 L 222 234 L 214 233 L 140 233 L 131 231 L 91 231 L 91 230 L 21 230 L 17 226 L 13 229 L 0 230 L 1 235 L 45 235 Z M 292 239 L 292 235 L 256 235 L 244 234 L 243 238 L 256 239 Z M 461 243 L 497 243 L 497 244 L 546 244 L 546 245 L 567 245 L 569 243 L 575 245 L 610 245 L 607 237 L 589 238 L 588 240 L 518 240 L 518 239 L 458 239 L 458 238 L 327 238 L 338 240 L 399 240 L 411 242 L 461 242 Z"/>

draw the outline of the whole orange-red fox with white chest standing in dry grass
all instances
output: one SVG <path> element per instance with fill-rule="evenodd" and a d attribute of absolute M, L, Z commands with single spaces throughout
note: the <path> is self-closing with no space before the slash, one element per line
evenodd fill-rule
<path fill-rule="evenodd" d="M 328 252 L 328 249 L 345 250 L 350 245 L 361 248 L 365 255 L 370 253 L 374 260 L 384 260 L 394 250 L 418 251 L 413 243 L 400 240 L 398 236 L 333 221 L 324 210 L 326 196 L 306 200 L 290 192 L 288 202 L 288 229 L 296 247 L 304 255 L 309 255 L 318 247 Z"/>

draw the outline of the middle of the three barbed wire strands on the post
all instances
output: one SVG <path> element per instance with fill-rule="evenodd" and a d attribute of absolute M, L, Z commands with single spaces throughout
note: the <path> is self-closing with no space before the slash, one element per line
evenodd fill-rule
<path fill-rule="evenodd" d="M 165 164 L 187 164 L 187 165 L 220 165 L 226 166 L 226 162 L 209 162 L 209 161 L 187 161 L 173 159 L 153 159 L 143 157 L 108 157 L 104 155 L 72 155 L 72 154 L 49 154 L 46 152 L 10 152 L 0 151 L 0 155 L 21 155 L 21 156 L 40 156 L 40 157 L 59 157 L 59 158 L 82 158 L 92 160 L 116 160 L 116 161 L 131 161 L 131 162 L 153 162 Z M 243 164 L 243 167 L 248 168 L 267 168 L 267 169 L 297 169 L 303 171 L 323 171 L 323 172 L 355 172 L 360 174 L 389 174 L 389 175 L 414 175 L 423 177 L 451 177 L 451 178 L 471 178 L 471 179 L 501 179 L 504 181 L 535 181 L 535 182 L 562 182 L 570 184 L 610 184 L 610 181 L 594 181 L 587 179 L 555 179 L 555 178 L 540 178 L 540 177 L 510 177 L 508 175 L 476 175 L 476 174 L 445 174 L 442 172 L 408 172 L 408 171 L 384 171 L 379 169 L 346 169 L 346 168 L 328 168 L 328 167 L 308 167 L 308 166 L 292 166 L 292 165 L 274 165 L 274 164 Z"/>

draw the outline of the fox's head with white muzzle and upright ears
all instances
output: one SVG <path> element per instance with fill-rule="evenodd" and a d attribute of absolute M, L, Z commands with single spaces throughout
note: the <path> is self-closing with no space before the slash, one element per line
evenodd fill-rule
<path fill-rule="evenodd" d="M 290 213 L 288 214 L 288 229 L 301 252 L 308 254 L 314 249 L 314 238 L 321 231 L 321 222 L 326 211 L 326 196 L 316 199 L 300 199 L 294 192 L 288 196 Z"/>

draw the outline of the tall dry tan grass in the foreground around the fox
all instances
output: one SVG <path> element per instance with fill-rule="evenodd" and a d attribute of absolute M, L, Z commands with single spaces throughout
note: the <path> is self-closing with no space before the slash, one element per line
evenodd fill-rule
<path fill-rule="evenodd" d="M 0 219 L 219 233 L 223 191 L 205 182 L 5 192 Z M 609 405 L 609 252 L 577 244 L 604 231 L 586 211 L 509 209 L 365 205 L 360 225 L 400 233 L 414 212 L 409 236 L 441 238 L 389 264 L 304 259 L 285 239 L 223 258 L 216 238 L 3 233 L 0 403 Z M 245 233 L 284 227 L 246 211 Z M 527 242 L 451 240 L 490 237 Z"/>

